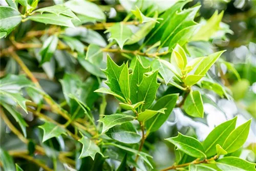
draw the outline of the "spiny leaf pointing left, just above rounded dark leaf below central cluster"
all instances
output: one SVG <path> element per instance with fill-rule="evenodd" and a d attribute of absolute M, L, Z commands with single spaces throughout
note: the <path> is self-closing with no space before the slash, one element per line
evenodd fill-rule
<path fill-rule="evenodd" d="M 125 115 L 125 114 L 112 114 L 112 115 L 105 115 L 104 118 L 98 120 L 98 122 L 103 123 L 103 128 L 102 128 L 102 133 L 108 131 L 111 127 L 115 125 L 120 125 L 125 122 L 130 122 L 134 120 L 135 118 L 130 115 Z"/>

